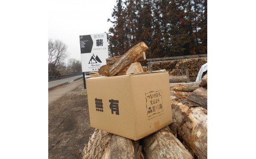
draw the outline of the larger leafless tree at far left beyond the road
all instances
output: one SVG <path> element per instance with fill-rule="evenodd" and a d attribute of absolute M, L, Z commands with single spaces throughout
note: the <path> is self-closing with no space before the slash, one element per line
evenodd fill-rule
<path fill-rule="evenodd" d="M 59 65 L 68 57 L 67 45 L 61 40 L 48 40 L 48 76 L 58 75 Z"/>

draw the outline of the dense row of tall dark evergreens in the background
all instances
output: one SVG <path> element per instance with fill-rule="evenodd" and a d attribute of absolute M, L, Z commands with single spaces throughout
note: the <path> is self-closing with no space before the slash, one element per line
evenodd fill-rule
<path fill-rule="evenodd" d="M 109 56 L 138 42 L 147 58 L 207 53 L 207 0 L 117 0 L 109 29 Z"/>

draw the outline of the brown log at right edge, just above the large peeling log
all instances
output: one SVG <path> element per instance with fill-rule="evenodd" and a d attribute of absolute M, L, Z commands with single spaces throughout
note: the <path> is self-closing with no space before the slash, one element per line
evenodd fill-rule
<path fill-rule="evenodd" d="M 207 89 L 200 87 L 194 90 L 191 95 L 188 95 L 187 99 L 193 104 L 207 109 Z"/>

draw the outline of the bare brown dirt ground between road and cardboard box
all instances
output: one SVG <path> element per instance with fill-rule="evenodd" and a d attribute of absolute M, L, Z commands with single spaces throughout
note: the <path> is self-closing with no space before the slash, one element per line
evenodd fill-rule
<path fill-rule="evenodd" d="M 81 159 L 94 133 L 83 84 L 48 105 L 48 158 Z"/>

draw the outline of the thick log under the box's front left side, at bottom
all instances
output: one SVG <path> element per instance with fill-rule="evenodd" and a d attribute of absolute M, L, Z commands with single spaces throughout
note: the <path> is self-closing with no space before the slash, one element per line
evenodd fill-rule
<path fill-rule="evenodd" d="M 139 141 L 96 129 L 83 150 L 83 159 L 137 159 L 138 148 Z"/>

